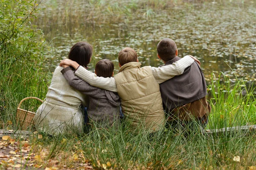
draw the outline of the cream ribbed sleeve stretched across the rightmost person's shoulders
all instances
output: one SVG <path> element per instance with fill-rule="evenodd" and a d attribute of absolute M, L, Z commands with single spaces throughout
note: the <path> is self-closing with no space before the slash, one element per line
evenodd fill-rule
<path fill-rule="evenodd" d="M 184 72 L 184 70 L 194 62 L 194 59 L 186 55 L 179 61 L 172 63 L 172 65 L 162 67 L 151 67 L 151 70 L 157 83 L 161 84 L 169 80 L 170 78 L 173 78 L 175 75 L 181 75 Z"/>

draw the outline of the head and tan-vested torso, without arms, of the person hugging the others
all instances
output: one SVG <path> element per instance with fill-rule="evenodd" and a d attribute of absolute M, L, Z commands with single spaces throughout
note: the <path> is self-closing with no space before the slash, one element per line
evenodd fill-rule
<path fill-rule="evenodd" d="M 124 58 L 131 58 L 127 62 Z M 131 48 L 119 52 L 121 68 L 114 76 L 118 94 L 121 98 L 122 112 L 134 127 L 159 130 L 165 123 L 160 86 L 151 68 L 140 68 L 137 53 Z M 129 61 L 129 60 L 128 60 Z"/>

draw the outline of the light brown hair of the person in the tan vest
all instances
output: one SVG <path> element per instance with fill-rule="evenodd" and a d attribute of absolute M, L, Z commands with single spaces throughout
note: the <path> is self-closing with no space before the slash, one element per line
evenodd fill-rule
<path fill-rule="evenodd" d="M 138 60 L 137 52 L 135 52 L 135 50 L 130 47 L 126 47 L 122 49 L 118 54 L 118 62 L 120 63 L 121 66 L 130 62 L 137 62 L 137 60 Z"/>

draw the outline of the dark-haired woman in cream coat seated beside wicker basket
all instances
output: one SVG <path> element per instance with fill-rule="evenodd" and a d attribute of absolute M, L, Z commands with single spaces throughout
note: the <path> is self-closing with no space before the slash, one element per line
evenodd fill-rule
<path fill-rule="evenodd" d="M 89 43 L 79 42 L 72 46 L 68 58 L 87 67 L 92 53 L 93 48 Z M 51 135 L 74 130 L 81 132 L 84 122 L 81 104 L 89 106 L 87 95 L 69 86 L 61 73 L 62 69 L 61 66 L 55 69 L 44 103 L 34 118 L 36 127 Z"/>

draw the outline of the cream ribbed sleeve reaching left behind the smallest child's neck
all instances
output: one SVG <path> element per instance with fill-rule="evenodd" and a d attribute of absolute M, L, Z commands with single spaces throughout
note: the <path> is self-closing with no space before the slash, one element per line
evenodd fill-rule
<path fill-rule="evenodd" d="M 96 74 L 88 71 L 82 66 L 78 67 L 78 69 L 75 71 L 75 75 L 83 79 L 84 81 L 86 81 L 91 86 L 95 86 L 111 92 L 117 92 L 116 81 L 113 77 L 111 78 L 97 77 Z"/>

